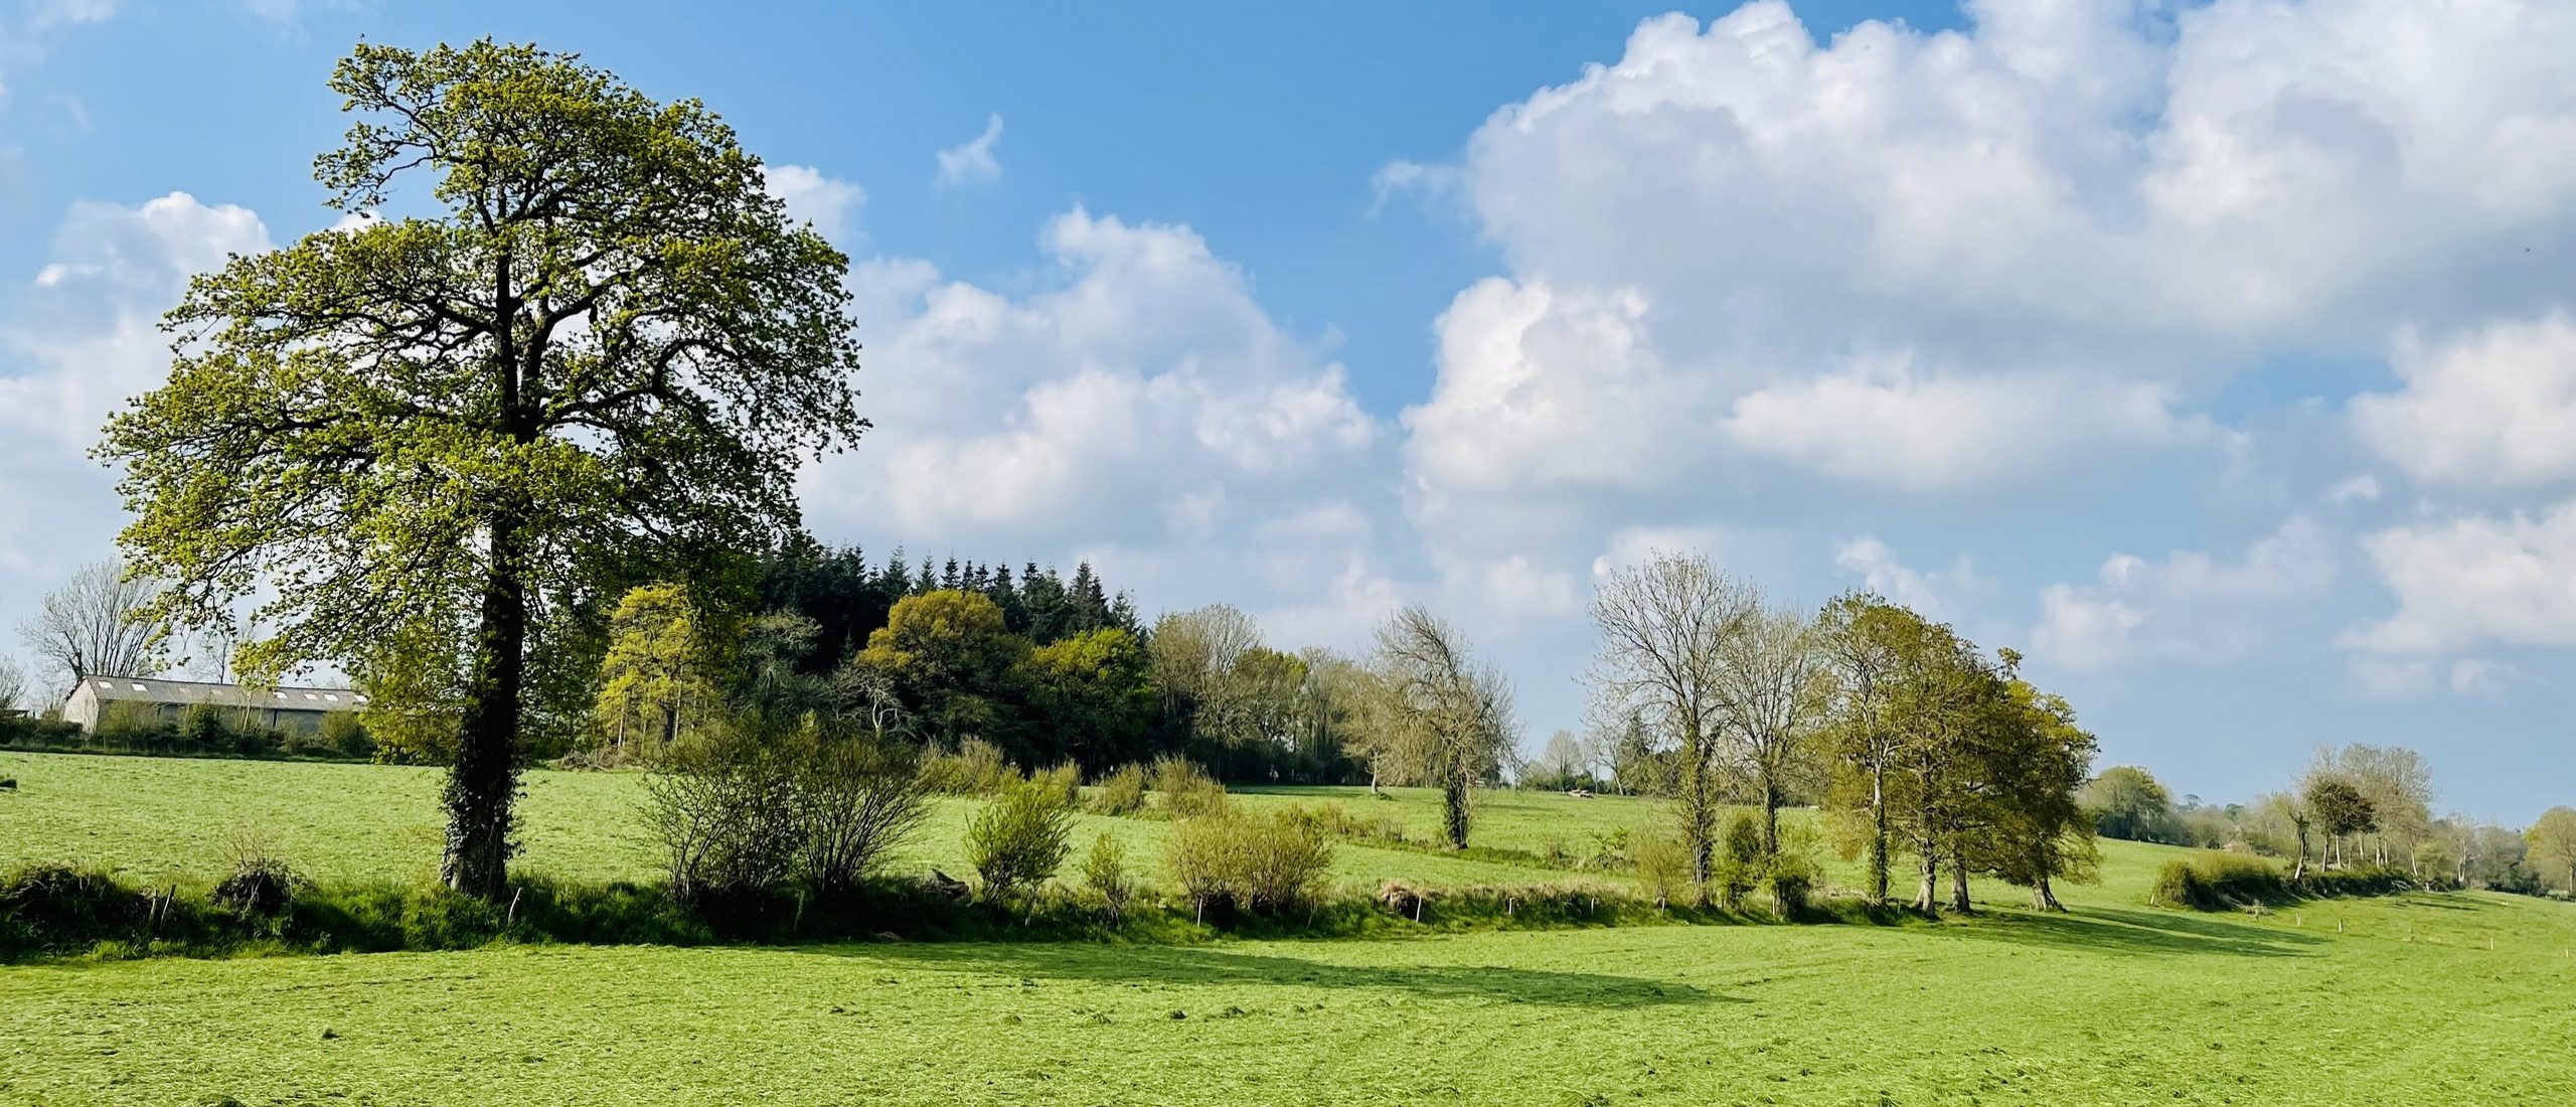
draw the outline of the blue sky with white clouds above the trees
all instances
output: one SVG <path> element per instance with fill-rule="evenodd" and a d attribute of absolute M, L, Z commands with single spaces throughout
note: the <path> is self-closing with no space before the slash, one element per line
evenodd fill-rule
<path fill-rule="evenodd" d="M 0 620 L 108 554 L 80 451 L 185 273 L 330 224 L 332 59 L 489 33 L 703 98 L 858 260 L 824 538 L 1283 646 L 1430 602 L 1533 749 L 1595 572 L 1695 546 L 2025 649 L 2177 790 L 2383 741 L 2522 821 L 2576 770 L 2576 26 L 2421 13 L 0 0 Z"/>

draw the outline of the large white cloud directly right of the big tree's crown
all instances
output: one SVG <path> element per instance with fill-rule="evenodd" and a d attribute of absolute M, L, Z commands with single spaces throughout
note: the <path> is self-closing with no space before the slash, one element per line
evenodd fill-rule
<path fill-rule="evenodd" d="M 1252 608 L 1342 587 L 1394 510 L 1383 427 L 1342 366 L 1283 332 L 1188 227 L 1077 209 L 1041 245 L 1054 278 L 1025 296 L 925 263 L 853 270 L 878 430 L 806 474 L 817 525 L 1092 551 L 1151 574 L 1149 600 Z"/>

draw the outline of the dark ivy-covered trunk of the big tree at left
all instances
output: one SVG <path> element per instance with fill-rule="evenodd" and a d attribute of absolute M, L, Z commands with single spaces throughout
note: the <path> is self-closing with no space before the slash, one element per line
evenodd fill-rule
<path fill-rule="evenodd" d="M 482 628 L 466 677 L 456 765 L 440 795 L 448 844 L 438 875 L 466 896 L 500 898 L 510 878 L 510 801 L 518 793 L 520 687 L 528 662 L 528 587 L 520 523 L 492 520 L 492 569 L 484 577 Z"/>

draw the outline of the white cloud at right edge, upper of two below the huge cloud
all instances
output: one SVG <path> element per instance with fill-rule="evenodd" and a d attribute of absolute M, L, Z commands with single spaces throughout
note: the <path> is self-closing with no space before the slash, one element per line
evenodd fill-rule
<path fill-rule="evenodd" d="M 2354 396 L 2362 440 L 2416 481 L 2514 489 L 2576 476 L 2576 322 L 2496 322 L 2391 358 L 2406 381 Z"/>

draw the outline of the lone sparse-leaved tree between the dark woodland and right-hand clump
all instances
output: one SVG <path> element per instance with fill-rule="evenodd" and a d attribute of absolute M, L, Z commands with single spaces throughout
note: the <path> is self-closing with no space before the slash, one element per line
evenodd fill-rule
<path fill-rule="evenodd" d="M 1378 674 L 1391 693 L 1391 723 L 1430 754 L 1450 847 L 1466 850 L 1473 788 L 1499 772 L 1520 736 L 1512 685 L 1476 664 L 1458 631 L 1419 605 L 1378 628 Z"/>

